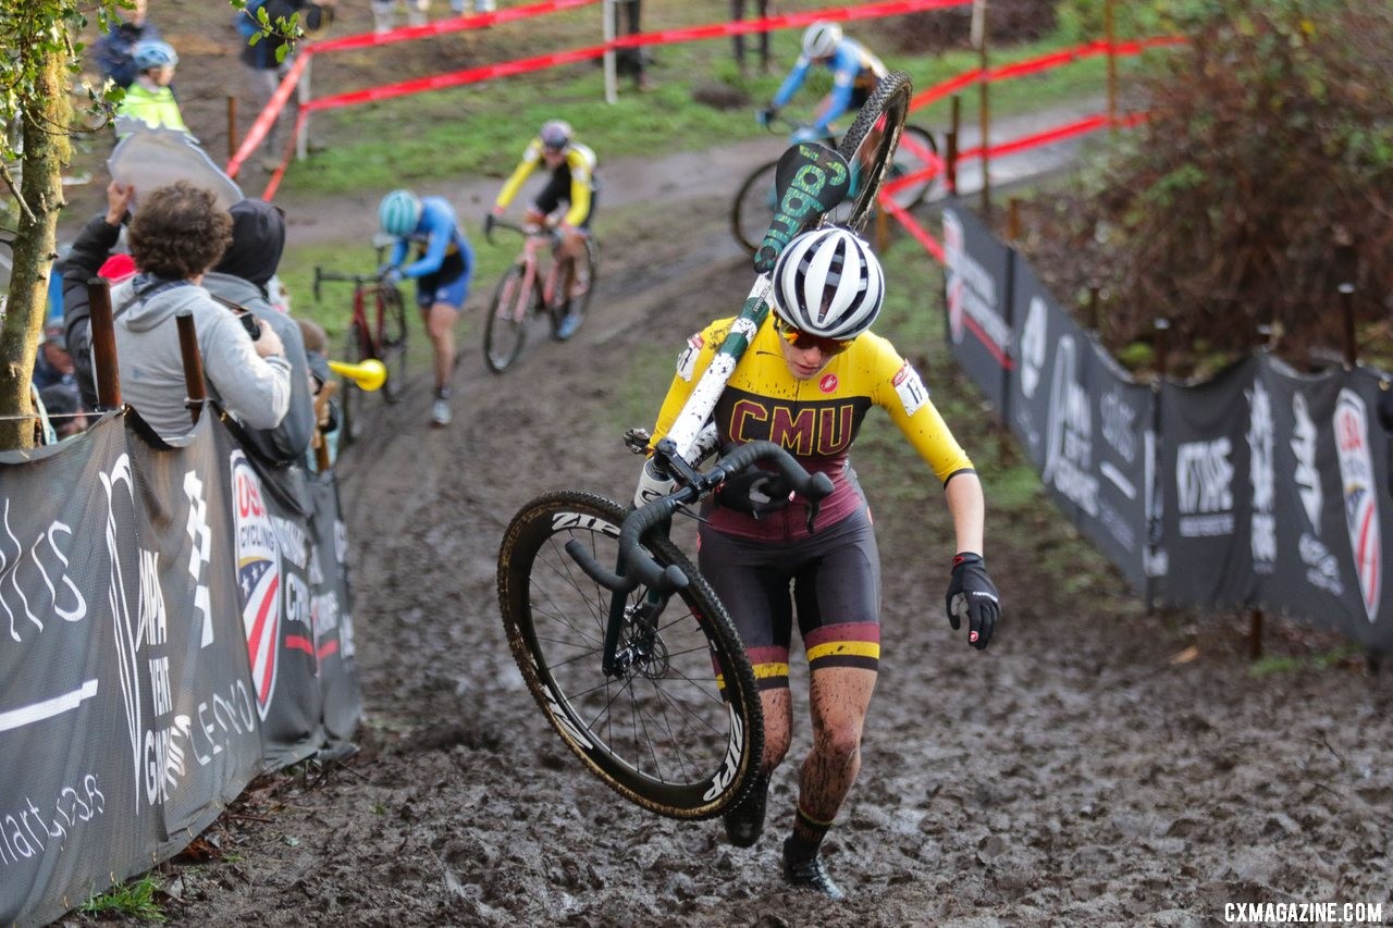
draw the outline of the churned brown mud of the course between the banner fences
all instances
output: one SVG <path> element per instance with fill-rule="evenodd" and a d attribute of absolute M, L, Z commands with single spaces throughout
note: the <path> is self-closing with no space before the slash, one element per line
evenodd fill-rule
<path fill-rule="evenodd" d="M 497 546 L 538 493 L 630 492 L 620 433 L 651 424 L 667 376 L 635 359 L 655 346 L 676 357 L 744 298 L 751 272 L 724 202 L 691 183 L 692 164 L 651 166 L 644 184 L 609 171 L 635 198 L 660 190 L 663 216 L 607 227 L 573 343 L 536 339 L 493 376 L 467 327 L 447 429 L 426 426 L 425 382 L 398 407 L 369 404 L 369 438 L 340 463 L 361 751 L 258 780 L 196 846 L 210 858 L 162 868 L 170 924 L 1209 925 L 1241 902 L 1393 915 L 1389 673 L 1321 666 L 1309 655 L 1329 642 L 1269 621 L 1269 652 L 1295 659 L 1255 676 L 1233 616 L 1146 614 L 1116 580 L 1059 580 L 1050 559 L 1070 532 L 1043 510 L 989 514 L 1004 621 L 975 652 L 943 616 L 943 507 L 893 504 L 903 481 L 932 478 L 878 467 L 873 450 L 857 461 L 876 507 L 886 644 L 861 778 L 825 846 L 850 899 L 780 882 L 794 764 L 749 850 L 719 822 L 642 812 L 581 769 L 508 654 Z M 471 184 L 447 192 L 467 201 Z M 293 235 L 350 212 L 320 209 L 293 216 Z M 926 379 L 965 389 L 943 365 Z M 617 410 L 635 390 L 648 412 L 631 422 Z M 1003 440 L 989 418 L 951 422 L 970 451 Z M 804 725 L 791 758 L 805 750 Z"/>

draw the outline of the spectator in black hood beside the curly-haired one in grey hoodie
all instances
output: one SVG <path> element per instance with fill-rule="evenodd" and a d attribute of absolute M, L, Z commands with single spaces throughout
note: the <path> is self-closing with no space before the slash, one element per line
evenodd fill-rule
<path fill-rule="evenodd" d="M 286 219 L 279 206 L 260 199 L 244 199 L 230 210 L 233 241 L 221 261 L 203 277 L 215 300 L 248 309 L 262 326 L 280 337 L 290 361 L 290 407 L 286 418 L 270 429 L 251 429 L 248 446 L 276 464 L 297 464 L 315 438 L 315 404 L 305 344 L 295 320 L 270 305 L 266 290 L 281 252 L 286 249 Z"/>

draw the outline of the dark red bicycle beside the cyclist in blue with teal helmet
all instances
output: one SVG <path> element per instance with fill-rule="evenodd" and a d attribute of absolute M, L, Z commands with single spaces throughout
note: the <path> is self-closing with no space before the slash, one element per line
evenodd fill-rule
<path fill-rule="evenodd" d="M 352 316 L 344 333 L 343 361 L 350 365 L 380 361 L 387 372 L 382 399 L 398 401 L 407 386 L 407 309 L 401 290 L 378 273 L 350 274 L 316 266 L 315 302 L 320 301 L 325 281 L 352 284 Z M 364 389 L 351 376 L 340 379 L 340 442 L 348 444 L 362 436 Z"/>

